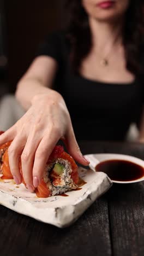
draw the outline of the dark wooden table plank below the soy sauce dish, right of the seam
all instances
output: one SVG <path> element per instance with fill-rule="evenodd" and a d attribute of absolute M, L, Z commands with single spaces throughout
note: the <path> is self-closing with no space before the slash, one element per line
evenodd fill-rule
<path fill-rule="evenodd" d="M 113 185 L 107 194 L 113 254 L 144 255 L 144 183 Z"/>

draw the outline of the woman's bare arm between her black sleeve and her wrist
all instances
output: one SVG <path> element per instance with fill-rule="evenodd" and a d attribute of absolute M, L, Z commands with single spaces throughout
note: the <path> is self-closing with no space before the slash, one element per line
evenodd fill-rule
<path fill-rule="evenodd" d="M 23 75 L 15 96 L 22 107 L 28 110 L 35 95 L 50 94 L 57 70 L 57 62 L 48 56 L 37 57 Z"/>

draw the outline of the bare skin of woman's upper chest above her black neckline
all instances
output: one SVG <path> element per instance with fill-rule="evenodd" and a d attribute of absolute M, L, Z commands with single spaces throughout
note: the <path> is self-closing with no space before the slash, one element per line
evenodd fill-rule
<path fill-rule="evenodd" d="M 80 73 L 91 80 L 99 80 L 105 83 L 131 83 L 135 77 L 126 68 L 123 52 L 112 53 L 106 58 L 107 65 L 103 63 L 103 53 L 91 53 L 82 61 Z"/>

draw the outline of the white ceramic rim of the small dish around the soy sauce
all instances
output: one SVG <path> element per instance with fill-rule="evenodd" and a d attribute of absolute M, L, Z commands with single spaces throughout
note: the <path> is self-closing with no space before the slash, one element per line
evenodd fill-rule
<path fill-rule="evenodd" d="M 130 156 L 130 155 L 122 155 L 122 154 L 89 154 L 89 155 L 85 155 L 86 158 L 90 161 L 90 165 L 89 167 L 91 167 L 92 170 L 97 172 L 97 165 L 99 164 L 99 162 L 102 161 L 106 161 L 106 160 L 127 160 L 127 161 L 131 161 L 134 162 L 137 165 L 140 165 L 144 168 L 144 161 L 139 159 L 139 158 L 135 158 L 134 156 Z M 96 168 L 96 170 L 95 170 Z M 98 172 L 97 172 L 98 173 Z M 141 182 L 144 181 L 144 176 L 140 179 L 135 179 L 134 181 L 113 181 L 111 180 L 113 183 L 122 183 L 122 184 L 128 184 L 128 183 L 135 183 L 135 182 Z"/>

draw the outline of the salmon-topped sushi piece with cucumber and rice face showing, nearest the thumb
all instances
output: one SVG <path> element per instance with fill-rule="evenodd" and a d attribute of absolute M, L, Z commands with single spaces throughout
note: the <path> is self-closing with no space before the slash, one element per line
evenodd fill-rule
<path fill-rule="evenodd" d="M 56 146 L 46 164 L 43 179 L 35 190 L 38 197 L 64 194 L 77 189 L 79 175 L 74 159 Z"/>

